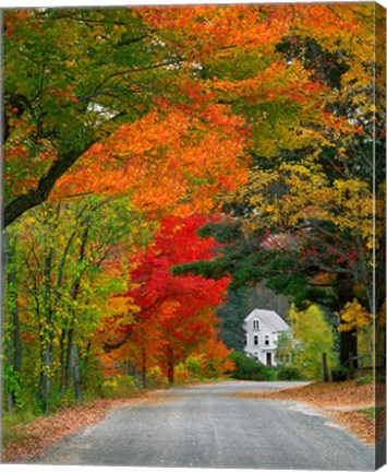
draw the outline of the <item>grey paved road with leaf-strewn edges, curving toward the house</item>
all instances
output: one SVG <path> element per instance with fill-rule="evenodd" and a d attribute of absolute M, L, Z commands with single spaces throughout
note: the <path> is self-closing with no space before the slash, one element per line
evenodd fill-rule
<path fill-rule="evenodd" d="M 222 382 L 159 391 L 111 410 L 39 463 L 214 469 L 372 470 L 364 446 L 305 403 L 234 396 L 292 382 Z"/>

